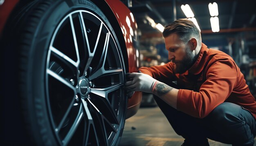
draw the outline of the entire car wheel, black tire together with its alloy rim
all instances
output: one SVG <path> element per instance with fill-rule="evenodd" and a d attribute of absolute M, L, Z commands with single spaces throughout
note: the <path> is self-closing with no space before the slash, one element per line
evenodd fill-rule
<path fill-rule="evenodd" d="M 126 67 L 103 12 L 89 0 L 39 0 L 17 24 L 18 100 L 34 144 L 118 145 Z"/>

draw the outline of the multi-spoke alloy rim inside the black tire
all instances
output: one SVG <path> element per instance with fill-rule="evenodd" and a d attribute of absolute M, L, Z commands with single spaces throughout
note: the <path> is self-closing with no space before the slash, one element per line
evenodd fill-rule
<path fill-rule="evenodd" d="M 61 145 L 116 142 L 124 122 L 124 74 L 106 22 L 86 10 L 61 20 L 46 62 L 47 107 Z"/>

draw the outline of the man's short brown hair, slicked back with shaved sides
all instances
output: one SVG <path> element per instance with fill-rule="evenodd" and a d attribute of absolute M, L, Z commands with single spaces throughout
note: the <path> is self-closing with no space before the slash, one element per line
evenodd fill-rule
<path fill-rule="evenodd" d="M 188 41 L 190 37 L 195 37 L 199 41 L 202 41 L 199 29 L 191 20 L 188 19 L 178 19 L 165 26 L 163 31 L 164 38 L 173 33 L 179 35 L 180 39 L 184 42 Z"/>

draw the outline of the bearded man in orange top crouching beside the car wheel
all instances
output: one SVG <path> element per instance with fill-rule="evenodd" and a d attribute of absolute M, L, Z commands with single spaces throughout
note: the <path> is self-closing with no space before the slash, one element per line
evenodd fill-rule
<path fill-rule="evenodd" d="M 227 54 L 208 49 L 200 31 L 187 19 L 168 24 L 164 42 L 171 61 L 128 73 L 128 93 L 153 93 L 183 146 L 209 146 L 208 139 L 253 146 L 256 101 L 244 75 Z M 177 86 L 169 86 L 177 81 Z M 180 89 L 178 89 L 180 88 Z"/>

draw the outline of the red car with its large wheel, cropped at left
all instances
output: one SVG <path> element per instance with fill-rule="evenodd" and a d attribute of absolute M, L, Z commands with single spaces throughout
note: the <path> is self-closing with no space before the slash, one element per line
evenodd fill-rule
<path fill-rule="evenodd" d="M 118 145 L 141 102 L 122 88 L 136 29 L 119 0 L 0 0 L 2 142 Z"/>

